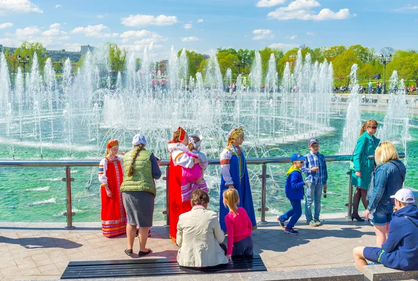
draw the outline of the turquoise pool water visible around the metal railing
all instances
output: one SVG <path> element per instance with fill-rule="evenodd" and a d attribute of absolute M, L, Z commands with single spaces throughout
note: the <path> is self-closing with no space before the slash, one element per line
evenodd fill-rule
<path fill-rule="evenodd" d="M 376 118 L 382 120 L 382 114 L 363 114 L 362 119 Z M 320 152 L 325 155 L 335 155 L 339 150 L 342 139 L 344 116 L 335 116 L 331 126 L 335 128 L 327 135 L 322 135 Z M 412 139 L 407 144 L 407 176 L 405 186 L 417 188 L 418 176 L 415 173 L 418 147 L 418 121 L 410 121 L 410 135 Z M 398 151 L 403 151 L 400 143 L 396 143 Z M 244 143 L 245 146 L 245 143 Z M 7 146 L 9 147 L 9 146 Z M 150 147 L 152 151 L 152 146 Z M 15 159 L 40 159 L 40 151 L 36 147 L 24 149 L 15 147 Z M 269 156 L 288 156 L 295 152 L 308 153 L 307 140 L 279 144 L 265 145 L 248 151 L 249 157 L 262 157 L 263 151 Z M 204 152 L 204 151 L 203 151 Z M 91 158 L 91 151 L 73 151 L 72 159 Z M 0 151 L 1 159 L 11 158 L 10 149 Z M 44 148 L 44 159 L 60 159 L 62 151 L 54 148 Z M 65 157 L 67 157 L 66 155 Z M 168 157 L 162 155 L 163 158 Z M 328 192 L 327 198 L 322 199 L 322 211 L 326 213 L 346 211 L 348 198 L 348 176 L 346 174 L 348 162 L 328 162 Z M 290 206 L 284 194 L 286 171 L 289 164 L 268 165 L 267 206 L 270 209 L 267 215 L 276 215 L 286 211 Z M 261 206 L 261 165 L 249 165 L 250 181 L 254 198 L 254 208 Z M 163 173 L 165 169 L 163 168 Z M 72 177 L 72 207 L 76 213 L 73 222 L 100 221 L 100 183 L 98 181 L 98 167 L 74 167 L 71 169 Z M 65 206 L 65 177 L 64 167 L 1 167 L 0 173 L 0 221 L 7 222 L 65 222 L 63 212 Z M 206 180 L 210 188 L 210 208 L 217 210 L 219 204 L 219 166 L 208 169 Z M 155 201 L 154 220 L 164 220 L 162 211 L 165 209 L 165 182 L 157 181 L 157 198 Z M 260 212 L 256 211 L 260 216 Z"/>

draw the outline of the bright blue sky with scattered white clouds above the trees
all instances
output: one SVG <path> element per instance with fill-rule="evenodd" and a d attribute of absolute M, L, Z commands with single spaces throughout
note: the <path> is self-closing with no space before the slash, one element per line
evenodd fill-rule
<path fill-rule="evenodd" d="M 418 49 L 418 0 L 0 0 L 0 44 L 48 50 L 112 42 L 158 59 L 186 48 L 300 45 Z"/>

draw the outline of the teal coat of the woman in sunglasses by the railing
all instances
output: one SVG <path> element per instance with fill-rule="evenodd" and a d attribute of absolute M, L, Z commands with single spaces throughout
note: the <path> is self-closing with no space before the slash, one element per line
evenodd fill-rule
<path fill-rule="evenodd" d="M 374 135 L 371 137 L 367 132 L 364 132 L 363 135 L 357 139 L 357 144 L 353 153 L 354 170 L 351 174 L 352 185 L 357 185 L 366 189 L 369 188 L 374 160 L 369 160 L 367 157 L 374 155 L 379 142 L 380 139 L 376 138 Z M 362 173 L 361 179 L 355 175 L 355 171 L 360 171 Z"/>

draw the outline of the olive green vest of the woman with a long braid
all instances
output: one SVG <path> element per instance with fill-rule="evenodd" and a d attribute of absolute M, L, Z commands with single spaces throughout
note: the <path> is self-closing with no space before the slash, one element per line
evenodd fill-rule
<path fill-rule="evenodd" d="M 155 197 L 155 185 L 153 179 L 153 168 L 150 161 L 151 153 L 142 149 L 134 162 L 133 176 L 127 176 L 136 149 L 132 149 L 123 156 L 123 183 L 121 192 L 125 191 L 146 191 L 153 193 Z"/>

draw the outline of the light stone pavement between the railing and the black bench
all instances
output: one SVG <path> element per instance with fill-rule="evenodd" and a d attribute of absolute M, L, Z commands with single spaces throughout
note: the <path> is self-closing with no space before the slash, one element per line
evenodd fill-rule
<path fill-rule="evenodd" d="M 268 271 L 354 266 L 353 248 L 376 245 L 373 227 L 351 222 L 343 213 L 321 215 L 324 224 L 309 227 L 300 218 L 299 235 L 285 234 L 276 218 L 253 232 L 254 254 L 261 255 Z M 61 223 L 0 222 L 0 281 L 58 280 L 69 261 L 137 259 L 128 257 L 126 236 L 105 238 L 100 223 L 84 222 L 75 230 Z M 164 222 L 155 222 L 147 258 L 176 257 L 178 247 L 169 239 Z M 135 241 L 134 252 L 139 251 Z"/>

